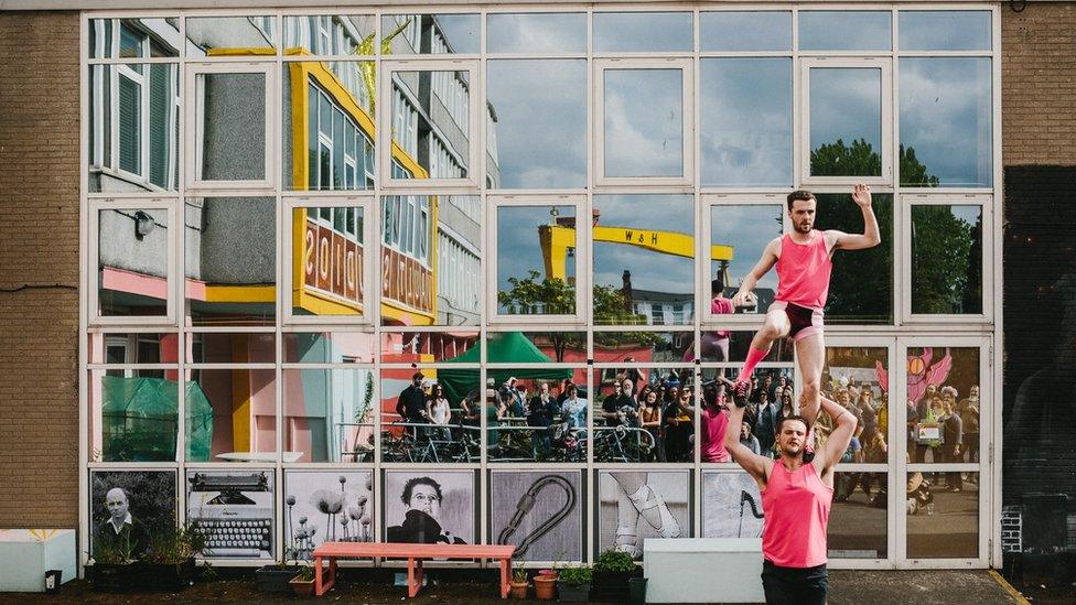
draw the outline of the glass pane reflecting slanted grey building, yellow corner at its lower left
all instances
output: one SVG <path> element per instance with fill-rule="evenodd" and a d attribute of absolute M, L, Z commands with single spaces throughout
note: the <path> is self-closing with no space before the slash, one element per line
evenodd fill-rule
<path fill-rule="evenodd" d="M 470 175 L 471 83 L 467 72 L 392 72 L 394 179 Z"/>

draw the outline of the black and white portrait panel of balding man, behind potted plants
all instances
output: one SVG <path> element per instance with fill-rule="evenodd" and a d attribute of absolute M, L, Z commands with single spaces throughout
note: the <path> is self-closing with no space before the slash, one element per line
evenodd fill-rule
<path fill-rule="evenodd" d="M 98 563 L 139 559 L 175 528 L 175 471 L 92 471 L 89 552 Z"/>

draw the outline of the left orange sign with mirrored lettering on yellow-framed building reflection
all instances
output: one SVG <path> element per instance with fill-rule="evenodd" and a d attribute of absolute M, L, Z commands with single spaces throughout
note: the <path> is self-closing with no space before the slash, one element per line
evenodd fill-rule
<path fill-rule="evenodd" d="M 363 247 L 309 218 L 303 236 L 303 273 L 308 290 L 362 305 Z"/>

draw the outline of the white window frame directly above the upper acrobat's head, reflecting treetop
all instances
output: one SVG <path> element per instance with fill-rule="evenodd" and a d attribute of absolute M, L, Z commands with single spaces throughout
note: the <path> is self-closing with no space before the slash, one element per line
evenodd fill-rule
<path fill-rule="evenodd" d="M 893 168 L 893 58 L 892 56 L 805 56 L 799 63 L 799 174 L 804 185 L 869 185 L 892 186 Z M 882 120 L 881 176 L 813 176 L 810 174 L 810 71 L 813 68 L 880 69 Z"/>

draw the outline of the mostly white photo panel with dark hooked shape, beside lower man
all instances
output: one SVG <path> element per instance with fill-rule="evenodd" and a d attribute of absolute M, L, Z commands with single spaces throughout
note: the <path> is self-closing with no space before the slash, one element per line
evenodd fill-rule
<path fill-rule="evenodd" d="M 702 472 L 702 537 L 761 538 L 758 484 L 742 471 Z"/>

